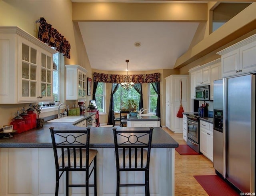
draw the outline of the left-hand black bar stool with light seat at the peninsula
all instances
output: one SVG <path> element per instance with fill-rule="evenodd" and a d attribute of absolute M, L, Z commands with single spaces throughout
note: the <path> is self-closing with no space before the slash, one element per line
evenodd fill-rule
<path fill-rule="evenodd" d="M 54 130 L 54 127 L 51 127 L 50 132 L 56 168 L 55 196 L 58 196 L 59 180 L 64 172 L 66 172 L 66 196 L 68 196 L 69 187 L 86 187 L 86 196 L 89 196 L 89 187 L 94 187 L 94 196 L 97 196 L 96 155 L 98 151 L 89 149 L 90 127 L 79 131 Z M 92 168 L 89 170 L 92 162 Z M 85 172 L 86 184 L 69 184 L 68 173 L 71 171 Z M 94 184 L 89 184 L 93 171 Z"/>

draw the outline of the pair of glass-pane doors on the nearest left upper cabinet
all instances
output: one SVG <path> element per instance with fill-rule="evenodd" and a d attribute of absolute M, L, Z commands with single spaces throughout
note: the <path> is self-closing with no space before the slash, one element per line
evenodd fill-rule
<path fill-rule="evenodd" d="M 22 59 L 18 60 L 22 61 L 22 76 L 18 101 L 52 100 L 52 54 L 25 40 L 21 44 Z"/>

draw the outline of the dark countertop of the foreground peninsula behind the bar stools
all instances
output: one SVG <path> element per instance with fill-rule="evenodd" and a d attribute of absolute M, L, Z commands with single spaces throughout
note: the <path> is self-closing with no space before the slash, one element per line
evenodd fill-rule
<path fill-rule="evenodd" d="M 0 148 L 52 148 L 50 127 L 54 130 L 84 130 L 83 127 L 72 123 L 44 123 L 42 128 L 36 128 L 20 134 L 13 134 L 12 138 L 0 138 Z M 140 127 L 120 127 L 118 130 L 141 130 Z M 146 128 L 148 129 L 148 128 Z M 153 130 L 152 148 L 176 148 L 176 142 L 162 128 Z M 92 127 L 90 131 L 90 147 L 114 148 L 112 127 Z"/>

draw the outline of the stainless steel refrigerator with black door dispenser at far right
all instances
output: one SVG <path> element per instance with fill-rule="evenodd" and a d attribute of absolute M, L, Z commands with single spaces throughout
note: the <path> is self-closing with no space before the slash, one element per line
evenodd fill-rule
<path fill-rule="evenodd" d="M 223 173 L 220 174 L 241 192 L 255 192 L 255 78 L 250 74 L 223 79 Z M 215 101 L 218 100 L 214 97 Z"/>

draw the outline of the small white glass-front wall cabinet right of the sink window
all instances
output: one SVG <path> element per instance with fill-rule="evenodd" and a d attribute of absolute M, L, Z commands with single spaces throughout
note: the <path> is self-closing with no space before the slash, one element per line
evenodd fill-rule
<path fill-rule="evenodd" d="M 86 73 L 80 65 L 66 66 L 66 100 L 86 100 Z"/>

